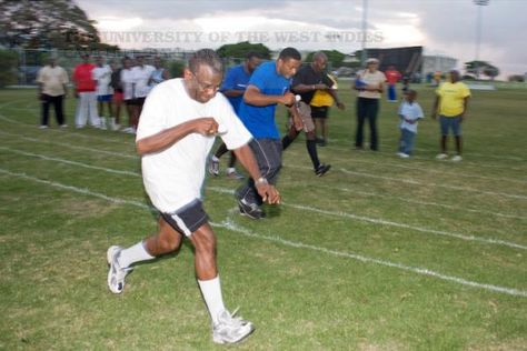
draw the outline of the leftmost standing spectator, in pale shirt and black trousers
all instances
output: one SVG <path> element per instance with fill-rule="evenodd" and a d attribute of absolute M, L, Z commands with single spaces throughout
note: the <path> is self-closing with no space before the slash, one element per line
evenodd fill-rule
<path fill-rule="evenodd" d="M 50 104 L 53 106 L 57 124 L 62 128 L 68 127 L 63 108 L 63 101 L 68 94 L 68 87 L 66 87 L 68 82 L 68 73 L 62 67 L 57 66 L 57 59 L 54 58 L 51 58 L 49 63 L 39 70 L 37 83 L 39 84 L 39 100 L 42 103 L 40 129 L 49 127 Z"/>

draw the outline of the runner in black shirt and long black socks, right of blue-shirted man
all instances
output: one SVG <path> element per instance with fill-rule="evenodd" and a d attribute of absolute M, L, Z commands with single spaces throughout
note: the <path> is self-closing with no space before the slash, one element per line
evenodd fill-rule
<path fill-rule="evenodd" d="M 292 87 L 291 90 L 295 93 L 300 94 L 300 101 L 298 102 L 300 117 L 302 118 L 304 123 L 304 132 L 306 133 L 306 149 L 308 151 L 309 158 L 311 159 L 311 163 L 314 167 L 315 174 L 321 177 L 326 174 L 327 171 L 331 168 L 330 164 L 320 163 L 318 158 L 317 151 L 317 138 L 315 133 L 315 122 L 312 119 L 312 114 L 317 114 L 317 117 L 325 118 L 327 113 L 327 109 L 318 108 L 318 107 L 310 107 L 312 97 L 317 90 L 325 90 L 329 92 L 334 99 L 337 101 L 337 106 L 340 109 L 344 109 L 344 104 L 338 100 L 337 92 L 331 89 L 334 82 L 324 71 L 326 69 L 326 64 L 328 63 L 328 58 L 324 52 L 317 52 L 312 57 L 311 64 L 304 66 L 300 68 L 298 73 L 292 79 Z M 288 132 L 282 138 L 281 144 L 282 149 L 286 150 L 292 141 L 298 137 L 300 133 L 297 130 L 295 123 L 289 123 Z"/>

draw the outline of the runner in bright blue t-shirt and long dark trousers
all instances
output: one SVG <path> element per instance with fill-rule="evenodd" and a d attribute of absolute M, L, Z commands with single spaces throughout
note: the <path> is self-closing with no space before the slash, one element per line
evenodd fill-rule
<path fill-rule="evenodd" d="M 237 190 L 240 212 L 251 219 L 265 217 L 260 209 L 261 197 L 255 187 L 261 182 L 275 184 L 281 168 L 280 133 L 275 122 L 277 104 L 287 106 L 294 116 L 295 124 L 301 128 L 301 120 L 295 108 L 295 94 L 289 91 L 291 78 L 300 64 L 301 56 L 298 50 L 284 49 L 278 60 L 260 64 L 252 73 L 240 103 L 239 117 L 253 137 L 249 146 L 262 176 L 258 180 L 249 179 L 246 185 Z"/>

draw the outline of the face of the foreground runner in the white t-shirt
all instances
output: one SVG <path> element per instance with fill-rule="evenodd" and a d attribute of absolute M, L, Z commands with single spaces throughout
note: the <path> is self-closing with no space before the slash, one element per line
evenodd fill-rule
<path fill-rule="evenodd" d="M 216 72 L 206 64 L 198 67 L 196 72 L 185 69 L 185 87 L 190 98 L 206 103 L 212 99 L 221 87 L 223 74 Z"/>

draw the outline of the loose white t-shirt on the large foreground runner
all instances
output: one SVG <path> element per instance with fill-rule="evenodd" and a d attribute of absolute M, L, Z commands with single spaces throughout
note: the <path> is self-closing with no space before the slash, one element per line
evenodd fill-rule
<path fill-rule="evenodd" d="M 222 94 L 200 103 L 188 96 L 183 80 L 177 78 L 156 86 L 148 96 L 136 140 L 202 117 L 213 117 L 220 130 L 227 130 L 221 139 L 230 150 L 252 139 Z M 141 158 L 145 189 L 158 210 L 173 212 L 201 199 L 207 156 L 215 139 L 190 133 L 170 148 Z"/>

